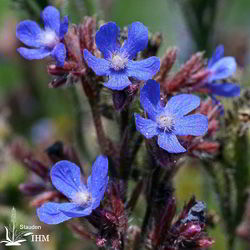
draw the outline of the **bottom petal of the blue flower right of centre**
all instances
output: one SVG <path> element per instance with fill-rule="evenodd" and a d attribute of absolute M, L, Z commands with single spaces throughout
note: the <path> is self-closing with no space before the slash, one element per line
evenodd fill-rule
<path fill-rule="evenodd" d="M 183 153 L 186 149 L 181 146 L 175 134 L 161 133 L 158 136 L 158 145 L 169 153 Z"/>

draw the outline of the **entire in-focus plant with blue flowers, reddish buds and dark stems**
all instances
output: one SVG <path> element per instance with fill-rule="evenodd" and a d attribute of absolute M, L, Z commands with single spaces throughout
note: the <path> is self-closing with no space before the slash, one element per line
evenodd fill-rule
<path fill-rule="evenodd" d="M 42 186 L 36 183 L 20 186 L 26 194 L 38 194 L 33 205 L 38 207 L 39 219 L 46 224 L 59 224 L 85 217 L 96 229 L 95 233 L 86 232 L 80 220 L 70 222 L 70 226 L 83 237 L 94 239 L 98 247 L 120 249 L 132 242 L 136 249 L 146 239 L 154 249 L 210 247 L 213 240 L 204 233 L 204 203 L 191 199 L 173 222 L 175 199 L 162 187 L 172 183 L 171 178 L 178 169 L 172 166 L 178 164 L 184 152 L 199 158 L 218 152 L 220 144 L 214 140 L 214 134 L 220 126 L 222 105 L 211 97 L 203 100 L 195 93 L 238 96 L 239 86 L 224 82 L 236 71 L 235 59 L 224 57 L 224 48 L 219 46 L 207 63 L 202 53 L 196 53 L 179 71 L 169 74 L 177 57 L 176 48 L 169 49 L 161 59 L 156 57 L 161 36 L 149 34 L 140 22 L 123 30 L 108 22 L 96 32 L 94 18 L 86 17 L 79 25 L 69 25 L 68 18 L 61 21 L 59 11 L 52 6 L 43 10 L 42 19 L 44 30 L 30 20 L 18 24 L 17 38 L 31 47 L 21 47 L 18 52 L 28 60 L 47 56 L 55 59 L 56 64 L 48 66 L 49 74 L 56 76 L 50 87 L 81 82 L 91 106 L 102 155 L 94 162 L 87 184 L 77 166 L 81 166 L 81 157 L 73 151 L 65 152 L 60 143 L 47 150 L 52 168 L 30 155 L 19 157 L 43 180 Z M 112 93 L 113 106 L 110 102 L 100 102 L 103 89 Z M 137 101 L 133 102 L 136 98 L 142 109 Z M 109 111 L 108 115 L 105 110 Z M 114 142 L 105 133 L 102 116 L 115 120 L 113 113 L 117 110 L 121 140 Z M 144 163 L 150 165 L 150 171 L 144 171 L 143 167 L 133 169 L 144 137 L 148 151 Z M 128 200 L 130 177 L 137 185 Z M 105 192 L 107 199 L 104 199 Z M 163 193 L 158 203 L 154 192 Z M 129 216 L 141 194 L 147 198 L 143 226 L 131 230 Z"/>

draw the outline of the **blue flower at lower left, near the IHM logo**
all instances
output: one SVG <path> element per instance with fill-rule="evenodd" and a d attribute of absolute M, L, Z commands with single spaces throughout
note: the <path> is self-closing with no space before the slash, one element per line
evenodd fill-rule
<path fill-rule="evenodd" d="M 105 156 L 97 157 L 87 186 L 81 179 L 80 168 L 69 161 L 56 163 L 50 176 L 54 187 L 70 202 L 43 204 L 37 209 L 39 219 L 46 224 L 58 224 L 71 218 L 87 216 L 100 206 L 104 197 L 108 184 L 108 159 Z"/>

